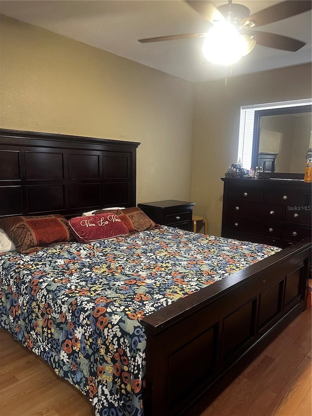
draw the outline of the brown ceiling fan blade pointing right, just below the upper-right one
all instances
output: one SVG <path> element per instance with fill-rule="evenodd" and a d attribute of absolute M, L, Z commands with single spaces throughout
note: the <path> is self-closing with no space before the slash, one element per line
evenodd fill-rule
<path fill-rule="evenodd" d="M 306 42 L 302 42 L 301 40 L 276 35 L 275 33 L 248 31 L 245 34 L 254 37 L 257 45 L 282 49 L 284 51 L 296 52 L 306 45 Z"/>

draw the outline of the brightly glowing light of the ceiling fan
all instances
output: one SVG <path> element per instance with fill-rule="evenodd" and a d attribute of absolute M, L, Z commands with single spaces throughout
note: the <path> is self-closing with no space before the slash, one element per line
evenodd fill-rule
<path fill-rule="evenodd" d="M 231 65 L 244 54 L 247 55 L 255 45 L 255 41 L 241 35 L 235 27 L 223 22 L 216 24 L 206 35 L 202 51 L 210 62 Z"/>

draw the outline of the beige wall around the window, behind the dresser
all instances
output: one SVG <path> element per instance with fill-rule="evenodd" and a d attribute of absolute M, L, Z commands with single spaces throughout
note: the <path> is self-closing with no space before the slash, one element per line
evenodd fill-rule
<path fill-rule="evenodd" d="M 311 64 L 196 85 L 192 200 L 220 235 L 224 172 L 236 162 L 241 105 L 311 98 Z"/>

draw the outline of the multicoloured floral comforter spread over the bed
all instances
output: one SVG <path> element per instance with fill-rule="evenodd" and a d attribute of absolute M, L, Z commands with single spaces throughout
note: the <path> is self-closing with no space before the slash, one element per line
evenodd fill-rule
<path fill-rule="evenodd" d="M 279 251 L 169 227 L 0 256 L 0 328 L 97 416 L 143 415 L 143 316 Z"/>

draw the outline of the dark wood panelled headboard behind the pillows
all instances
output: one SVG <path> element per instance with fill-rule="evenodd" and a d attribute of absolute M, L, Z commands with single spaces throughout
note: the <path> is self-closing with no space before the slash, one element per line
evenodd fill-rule
<path fill-rule="evenodd" d="M 139 144 L 0 129 L 0 217 L 136 206 Z"/>

